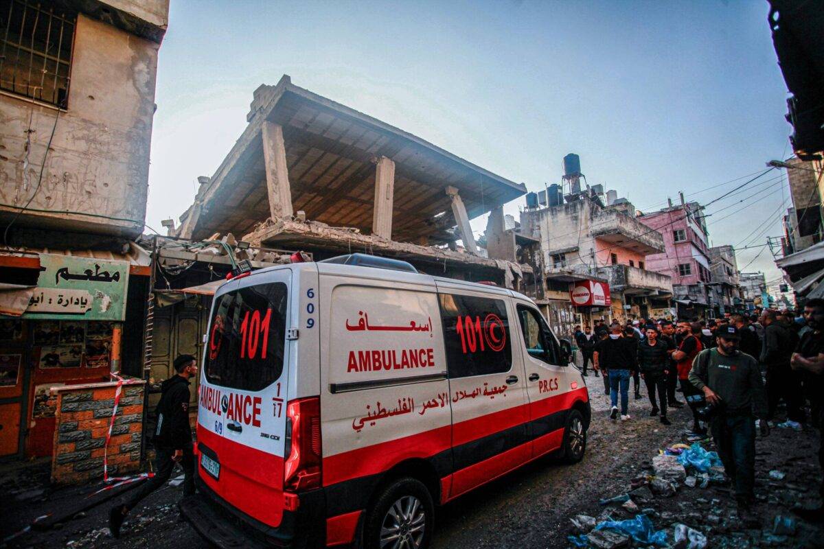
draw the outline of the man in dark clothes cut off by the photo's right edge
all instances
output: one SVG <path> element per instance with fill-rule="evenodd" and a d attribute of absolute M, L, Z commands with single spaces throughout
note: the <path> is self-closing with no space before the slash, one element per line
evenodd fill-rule
<path fill-rule="evenodd" d="M 810 329 L 802 334 L 798 347 L 790 357 L 790 365 L 796 372 L 806 375 L 805 382 L 812 385 L 812 390 L 808 391 L 812 412 L 818 416 L 818 429 L 824 430 L 824 300 L 809 300 L 804 304 L 804 321 Z M 819 436 L 818 465 L 824 471 L 824 434 Z M 793 509 L 794 513 L 802 519 L 824 522 L 824 482 L 819 486 L 818 494 L 821 505 L 814 509 Z"/>

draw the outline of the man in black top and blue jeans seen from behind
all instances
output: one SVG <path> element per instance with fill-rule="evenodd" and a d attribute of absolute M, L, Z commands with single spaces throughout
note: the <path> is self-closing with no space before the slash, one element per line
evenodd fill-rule
<path fill-rule="evenodd" d="M 634 359 L 634 338 L 627 338 L 621 333 L 620 324 L 614 320 L 608 337 L 598 342 L 595 347 L 595 369 L 606 370 L 610 381 L 610 418 L 618 417 L 618 393 L 620 392 L 620 419 L 630 419 L 630 375 L 638 367 Z M 633 347 L 633 348 L 630 348 Z"/>

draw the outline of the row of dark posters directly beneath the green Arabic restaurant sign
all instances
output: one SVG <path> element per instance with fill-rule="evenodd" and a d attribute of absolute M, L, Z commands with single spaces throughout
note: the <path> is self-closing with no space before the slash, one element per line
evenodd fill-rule
<path fill-rule="evenodd" d="M 109 367 L 114 322 L 47 320 L 32 325 L 41 369 Z"/>

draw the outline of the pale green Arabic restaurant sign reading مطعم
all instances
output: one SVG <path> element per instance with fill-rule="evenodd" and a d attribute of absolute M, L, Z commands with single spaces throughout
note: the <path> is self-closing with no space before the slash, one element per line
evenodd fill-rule
<path fill-rule="evenodd" d="M 40 254 L 24 319 L 124 320 L 129 262 Z"/>

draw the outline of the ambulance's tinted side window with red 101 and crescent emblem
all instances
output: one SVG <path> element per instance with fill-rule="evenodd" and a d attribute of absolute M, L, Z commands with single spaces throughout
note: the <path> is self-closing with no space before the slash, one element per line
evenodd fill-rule
<path fill-rule="evenodd" d="M 456 294 L 439 298 L 449 377 L 509 371 L 512 350 L 503 300 Z"/>

